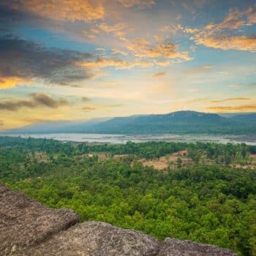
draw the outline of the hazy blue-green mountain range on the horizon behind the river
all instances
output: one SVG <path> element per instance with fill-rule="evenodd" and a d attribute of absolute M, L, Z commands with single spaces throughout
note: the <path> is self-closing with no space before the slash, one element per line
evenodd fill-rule
<path fill-rule="evenodd" d="M 89 121 L 52 121 L 1 132 L 33 133 L 255 135 L 256 113 L 226 117 L 216 113 L 177 111 L 156 115 L 94 118 Z"/>

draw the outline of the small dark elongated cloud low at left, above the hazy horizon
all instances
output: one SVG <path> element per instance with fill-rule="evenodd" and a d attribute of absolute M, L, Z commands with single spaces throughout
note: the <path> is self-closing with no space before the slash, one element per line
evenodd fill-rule
<path fill-rule="evenodd" d="M 47 94 L 29 94 L 29 99 L 22 99 L 14 102 L 13 100 L 4 100 L 0 102 L 0 110 L 18 111 L 20 108 L 59 108 L 69 105 L 67 99 L 53 99 Z"/>

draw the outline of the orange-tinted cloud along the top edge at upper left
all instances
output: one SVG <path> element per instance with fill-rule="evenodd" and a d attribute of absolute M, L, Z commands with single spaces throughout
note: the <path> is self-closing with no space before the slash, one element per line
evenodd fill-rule
<path fill-rule="evenodd" d="M 4 0 L 2 4 L 12 10 L 31 12 L 53 20 L 91 22 L 105 17 L 105 10 L 99 1 L 94 1 L 93 4 L 93 1 L 89 0 L 54 0 L 46 4 L 41 0 Z"/>

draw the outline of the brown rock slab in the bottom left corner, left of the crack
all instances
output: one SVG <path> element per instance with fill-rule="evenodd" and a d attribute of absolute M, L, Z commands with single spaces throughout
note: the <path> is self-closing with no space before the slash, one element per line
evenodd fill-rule
<path fill-rule="evenodd" d="M 0 254 L 12 255 L 79 222 L 73 211 L 42 206 L 0 184 Z"/>

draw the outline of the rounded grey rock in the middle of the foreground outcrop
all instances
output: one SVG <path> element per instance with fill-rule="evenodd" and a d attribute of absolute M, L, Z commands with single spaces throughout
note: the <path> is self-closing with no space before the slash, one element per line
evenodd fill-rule
<path fill-rule="evenodd" d="M 150 256 L 158 243 L 139 231 L 124 230 L 105 222 L 83 222 L 31 248 L 28 255 Z"/>

